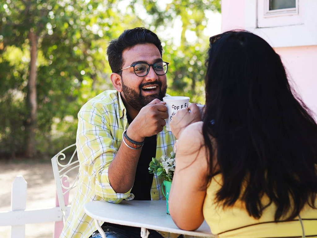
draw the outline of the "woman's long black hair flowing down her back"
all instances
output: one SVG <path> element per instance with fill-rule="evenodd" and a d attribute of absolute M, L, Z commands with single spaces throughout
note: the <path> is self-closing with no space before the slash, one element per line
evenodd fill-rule
<path fill-rule="evenodd" d="M 292 92 L 279 55 L 257 35 L 229 31 L 210 38 L 208 56 L 203 136 L 209 181 L 216 149 L 223 175 L 217 203 L 242 199 L 255 218 L 274 203 L 275 221 L 294 219 L 305 203 L 316 208 L 317 125 Z M 264 194 L 269 204 L 261 203 Z"/>

